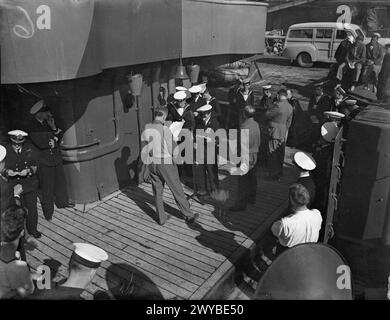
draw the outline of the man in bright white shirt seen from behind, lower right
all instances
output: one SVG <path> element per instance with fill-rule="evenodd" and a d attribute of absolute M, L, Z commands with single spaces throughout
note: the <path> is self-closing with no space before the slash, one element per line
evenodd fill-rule
<path fill-rule="evenodd" d="M 293 184 L 289 189 L 289 197 L 293 213 L 276 221 L 271 227 L 279 241 L 277 254 L 297 244 L 317 242 L 321 229 L 320 211 L 307 208 L 309 191 L 301 184 Z"/>

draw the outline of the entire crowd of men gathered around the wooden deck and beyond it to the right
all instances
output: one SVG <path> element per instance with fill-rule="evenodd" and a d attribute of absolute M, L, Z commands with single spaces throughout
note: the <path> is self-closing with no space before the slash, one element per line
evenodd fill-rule
<path fill-rule="evenodd" d="M 199 201 L 217 198 L 222 191 L 218 178 L 221 141 L 209 139 L 207 133 L 246 130 L 249 133 L 248 149 L 246 154 L 240 150 L 242 161 L 235 164 L 240 173 L 236 202 L 230 211 L 244 211 L 248 205 L 256 203 L 259 168 L 267 168 L 268 181 L 278 182 L 283 177 L 286 145 L 302 149 L 293 155 L 299 174 L 296 183 L 289 189 L 289 208 L 273 224 L 272 233 L 277 239 L 278 253 L 299 243 L 317 242 L 323 236 L 321 225 L 326 217 L 335 138 L 341 127 L 344 128 L 344 137 L 347 137 L 349 122 L 362 110 L 343 89 L 343 77 L 346 71 L 353 70 L 352 82 L 348 86 L 350 91 L 353 92 L 362 81 L 365 87 L 372 85 L 372 90 L 378 98 L 381 97 L 383 87 L 378 85 L 378 80 L 388 78 L 390 45 L 386 46 L 384 56 L 378 38 L 379 35 L 374 35 L 365 46 L 362 39 L 358 37 L 355 40 L 348 34 L 336 52 L 338 84 L 333 94 L 325 92 L 324 83 L 315 85 L 307 112 L 303 111 L 292 90 L 274 90 L 271 84 L 262 87 L 263 95 L 257 100 L 251 90 L 250 79 L 241 79 L 237 86 L 231 88 L 228 108 L 222 108 L 213 97 L 206 74 L 200 83 L 189 88 L 176 87 L 176 92 L 167 97 L 165 89 L 161 88 L 160 106 L 147 127 L 160 132 L 162 139 L 153 140 L 146 150 L 152 159 L 147 168 L 156 202 L 157 222 L 164 225 L 170 218 L 164 211 L 165 184 L 172 191 L 186 223 L 196 221 L 199 214 L 190 208 L 182 178 L 192 178 L 194 196 Z M 276 95 L 273 94 L 275 91 Z M 9 143 L 0 145 L 0 298 L 80 298 L 100 263 L 108 258 L 102 249 L 90 244 L 75 244 L 68 279 L 47 291 L 34 290 L 33 280 L 36 281 L 39 275 L 30 273 L 26 262 L 26 237 L 41 237 L 38 231 L 38 196 L 47 220 L 53 217 L 54 204 L 57 208 L 74 205 L 68 199 L 62 167 L 62 131 L 56 126 L 44 101 L 37 102 L 30 113 L 32 120 L 28 130 L 8 132 Z M 172 123 L 180 123 L 180 130 L 191 132 L 196 141 L 193 161 L 175 163 L 175 146 L 184 143 L 184 140 L 173 137 Z M 200 137 L 199 130 L 203 132 Z M 238 146 L 239 142 L 240 134 L 236 141 Z M 158 147 L 153 144 L 158 144 Z M 204 144 L 203 148 L 200 144 Z M 210 148 L 214 151 L 213 161 L 205 161 L 210 158 Z M 197 149 L 202 152 L 197 152 Z M 247 161 L 243 161 L 244 156 Z"/>

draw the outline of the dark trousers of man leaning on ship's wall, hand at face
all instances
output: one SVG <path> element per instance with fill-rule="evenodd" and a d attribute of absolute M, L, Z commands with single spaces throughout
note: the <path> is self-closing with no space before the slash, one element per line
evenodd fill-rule
<path fill-rule="evenodd" d="M 54 201 L 57 208 L 65 207 L 69 201 L 62 163 L 53 167 L 40 165 L 38 177 L 43 215 L 50 220 L 54 213 Z"/>

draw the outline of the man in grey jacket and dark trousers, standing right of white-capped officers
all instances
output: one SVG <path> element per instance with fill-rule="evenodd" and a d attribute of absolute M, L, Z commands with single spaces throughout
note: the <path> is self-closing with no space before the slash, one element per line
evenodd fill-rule
<path fill-rule="evenodd" d="M 257 190 L 257 154 L 260 148 L 261 135 L 258 123 L 254 120 L 255 108 L 252 106 L 245 106 L 244 108 L 244 122 L 241 124 L 242 130 L 249 131 L 248 141 L 248 170 L 243 172 L 238 178 L 238 195 L 236 203 L 230 208 L 230 211 L 244 211 L 248 203 L 256 203 Z M 241 150 L 242 152 L 243 150 Z M 245 156 L 241 154 L 241 156 Z M 244 161 L 245 163 L 245 161 Z"/>

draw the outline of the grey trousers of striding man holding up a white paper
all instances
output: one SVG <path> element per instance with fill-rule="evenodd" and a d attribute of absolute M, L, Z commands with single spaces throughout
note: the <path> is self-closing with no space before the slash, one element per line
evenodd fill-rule
<path fill-rule="evenodd" d="M 190 210 L 190 204 L 184 194 L 183 187 L 180 182 L 179 173 L 176 164 L 150 164 L 150 179 L 152 181 L 153 194 L 156 201 L 156 210 L 158 221 L 164 223 L 166 214 L 164 211 L 164 185 L 168 185 L 169 189 L 175 198 L 176 204 L 182 214 L 186 217 L 192 217 L 193 213 Z"/>

